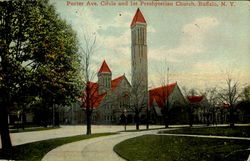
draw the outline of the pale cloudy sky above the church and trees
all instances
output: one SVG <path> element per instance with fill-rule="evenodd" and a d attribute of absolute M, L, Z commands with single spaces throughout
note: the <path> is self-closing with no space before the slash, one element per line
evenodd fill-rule
<path fill-rule="evenodd" d="M 106 60 L 113 79 L 125 74 L 131 80 L 130 23 L 138 6 L 68 6 L 64 0 L 51 3 L 76 31 L 81 46 L 84 35 L 96 36 L 94 71 Z M 177 82 L 181 88 L 224 87 L 227 75 L 241 86 L 250 84 L 249 2 L 235 2 L 233 7 L 139 8 L 147 22 L 149 88 L 161 85 L 167 68 L 169 83 Z"/>

